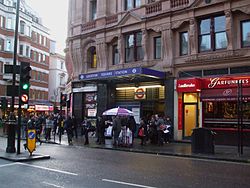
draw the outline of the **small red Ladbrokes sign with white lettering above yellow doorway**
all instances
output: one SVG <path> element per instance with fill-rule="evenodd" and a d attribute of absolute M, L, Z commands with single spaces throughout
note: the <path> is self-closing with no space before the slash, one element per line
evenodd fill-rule
<path fill-rule="evenodd" d="M 177 92 L 197 92 L 201 91 L 201 80 L 198 78 L 177 80 Z"/>

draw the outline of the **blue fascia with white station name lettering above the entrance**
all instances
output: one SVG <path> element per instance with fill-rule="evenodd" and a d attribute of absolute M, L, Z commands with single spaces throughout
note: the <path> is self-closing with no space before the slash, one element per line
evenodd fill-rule
<path fill-rule="evenodd" d="M 128 76 L 128 75 L 144 75 L 150 76 L 155 78 L 164 78 L 165 73 L 148 69 L 142 67 L 135 67 L 135 68 L 127 68 L 127 69 L 118 69 L 118 70 L 110 70 L 110 71 L 103 71 L 103 72 L 95 72 L 89 74 L 80 74 L 79 80 L 94 80 L 94 79 L 104 79 L 104 78 L 113 78 L 119 76 Z"/>

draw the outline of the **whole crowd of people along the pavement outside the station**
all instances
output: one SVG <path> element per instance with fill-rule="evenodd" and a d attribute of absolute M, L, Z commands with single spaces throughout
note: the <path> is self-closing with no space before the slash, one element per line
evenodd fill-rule
<path fill-rule="evenodd" d="M 21 138 L 25 139 L 27 129 L 36 129 L 37 140 L 41 141 L 41 136 L 44 136 L 46 141 L 51 140 L 53 135 L 63 135 L 66 131 L 68 143 L 72 144 L 72 138 L 78 137 L 78 128 L 81 128 L 81 135 L 85 137 L 85 145 L 89 144 L 89 133 L 96 135 L 97 144 L 105 144 L 105 131 L 112 127 L 113 145 L 119 146 L 121 142 L 126 141 L 129 146 L 133 145 L 134 136 L 141 139 L 141 145 L 145 145 L 148 141 L 152 144 L 162 146 L 164 143 L 169 143 L 172 138 L 172 123 L 170 118 L 155 114 L 148 118 L 141 118 L 139 128 L 133 116 L 99 116 L 96 120 L 96 126 L 93 126 L 87 118 L 81 123 L 77 123 L 74 116 L 63 116 L 61 114 L 50 115 L 29 115 L 21 118 Z M 138 129 L 138 130 L 137 130 Z M 125 139 L 123 135 L 125 132 Z M 61 138 L 59 137 L 61 142 Z M 127 143 L 128 142 L 128 143 Z"/>

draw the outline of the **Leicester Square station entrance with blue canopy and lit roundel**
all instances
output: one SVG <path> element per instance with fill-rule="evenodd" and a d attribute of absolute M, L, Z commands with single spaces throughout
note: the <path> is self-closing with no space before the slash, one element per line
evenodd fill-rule
<path fill-rule="evenodd" d="M 164 72 L 153 69 L 134 67 L 81 74 L 79 82 L 73 83 L 73 113 L 80 120 L 95 119 L 109 108 L 123 107 L 133 111 L 139 124 L 142 117 L 166 114 L 169 105 L 173 113 L 173 80 L 166 81 Z"/>

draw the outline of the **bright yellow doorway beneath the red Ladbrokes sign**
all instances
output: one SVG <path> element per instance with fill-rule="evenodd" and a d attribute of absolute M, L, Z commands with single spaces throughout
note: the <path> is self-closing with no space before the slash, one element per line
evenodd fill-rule
<path fill-rule="evenodd" d="M 184 105 L 184 138 L 189 139 L 197 127 L 197 104 Z"/>

